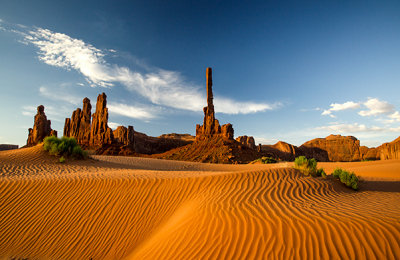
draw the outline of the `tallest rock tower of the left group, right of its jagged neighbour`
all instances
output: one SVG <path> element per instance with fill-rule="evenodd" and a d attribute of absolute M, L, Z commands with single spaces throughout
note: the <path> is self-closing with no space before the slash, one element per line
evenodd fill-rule
<path fill-rule="evenodd" d="M 93 147 L 101 147 L 104 144 L 112 144 L 113 139 L 113 132 L 108 127 L 107 96 L 102 93 L 97 97 L 96 112 L 92 116 L 89 144 Z"/>

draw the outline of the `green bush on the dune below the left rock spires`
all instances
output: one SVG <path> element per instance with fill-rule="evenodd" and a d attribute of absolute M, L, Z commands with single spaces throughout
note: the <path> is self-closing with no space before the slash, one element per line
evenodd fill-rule
<path fill-rule="evenodd" d="M 73 137 L 63 136 L 62 138 L 57 138 L 55 136 L 48 136 L 44 139 L 43 148 L 48 151 L 49 154 L 62 156 L 61 158 L 63 158 L 63 156 L 73 157 L 76 159 L 85 159 L 87 157 L 87 152 L 82 150 L 76 142 L 76 139 Z"/>

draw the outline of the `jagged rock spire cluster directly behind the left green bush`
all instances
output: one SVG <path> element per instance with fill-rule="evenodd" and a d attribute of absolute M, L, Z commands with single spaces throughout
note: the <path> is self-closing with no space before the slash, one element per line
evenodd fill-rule
<path fill-rule="evenodd" d="M 77 108 L 71 118 L 65 119 L 64 136 L 74 137 L 78 144 L 87 147 L 89 146 L 91 135 L 91 110 L 92 105 L 88 98 L 83 99 L 82 110 Z"/>

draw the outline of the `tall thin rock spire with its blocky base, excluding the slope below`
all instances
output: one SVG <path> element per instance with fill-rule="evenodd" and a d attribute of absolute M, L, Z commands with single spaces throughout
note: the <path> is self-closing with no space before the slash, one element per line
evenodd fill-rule
<path fill-rule="evenodd" d="M 217 119 L 215 119 L 215 110 L 213 103 L 212 93 L 212 70 L 206 70 L 207 80 L 207 106 L 203 108 L 204 120 L 203 125 L 196 125 L 196 140 L 205 140 L 213 136 L 221 136 L 224 139 L 233 139 L 233 127 L 231 124 L 220 126 Z"/>

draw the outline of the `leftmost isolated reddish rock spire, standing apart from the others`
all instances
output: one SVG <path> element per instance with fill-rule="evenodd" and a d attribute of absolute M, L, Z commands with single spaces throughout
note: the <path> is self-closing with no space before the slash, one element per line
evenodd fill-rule
<path fill-rule="evenodd" d="M 51 121 L 47 120 L 44 106 L 37 107 L 33 128 L 28 129 L 27 146 L 33 146 L 43 141 L 46 136 L 57 136 L 57 131 L 51 129 Z"/>

